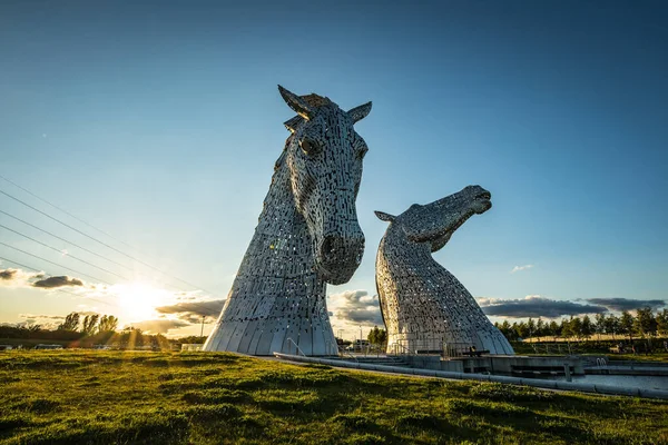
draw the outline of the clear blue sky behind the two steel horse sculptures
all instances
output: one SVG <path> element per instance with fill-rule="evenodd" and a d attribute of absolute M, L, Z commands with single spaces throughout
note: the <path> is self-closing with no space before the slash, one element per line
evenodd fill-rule
<path fill-rule="evenodd" d="M 276 85 L 342 108 L 373 100 L 356 126 L 370 147 L 357 200 L 366 251 L 328 294 L 375 293 L 385 224 L 373 210 L 479 184 L 494 207 L 435 254 L 475 297 L 666 299 L 661 2 L 224 3 L 2 2 L 0 175 L 220 299 L 293 116 Z M 6 196 L 0 209 L 100 247 Z M 7 230 L 0 240 L 85 269 Z M 116 310 L 0 287 L 0 322 L 87 308 Z"/>

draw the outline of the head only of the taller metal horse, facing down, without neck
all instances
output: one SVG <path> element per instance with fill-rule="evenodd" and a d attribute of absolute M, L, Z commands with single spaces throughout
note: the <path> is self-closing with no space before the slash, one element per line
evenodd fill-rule
<path fill-rule="evenodd" d="M 317 95 L 299 97 L 278 86 L 297 113 L 285 122 L 292 136 L 284 152 L 297 210 L 313 240 L 315 267 L 327 283 L 351 279 L 364 253 L 355 198 L 362 159 L 369 150 L 353 125 L 369 115 L 371 102 L 344 111 Z"/>

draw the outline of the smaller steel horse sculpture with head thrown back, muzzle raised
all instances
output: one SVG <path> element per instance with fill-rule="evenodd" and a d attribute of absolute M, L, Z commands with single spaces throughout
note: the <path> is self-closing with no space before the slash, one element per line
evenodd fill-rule
<path fill-rule="evenodd" d="M 451 352 L 475 347 L 513 354 L 505 337 L 466 288 L 432 258 L 471 216 L 492 207 L 491 194 L 469 186 L 434 202 L 413 205 L 390 222 L 376 257 L 376 287 L 387 327 L 387 350 Z"/>

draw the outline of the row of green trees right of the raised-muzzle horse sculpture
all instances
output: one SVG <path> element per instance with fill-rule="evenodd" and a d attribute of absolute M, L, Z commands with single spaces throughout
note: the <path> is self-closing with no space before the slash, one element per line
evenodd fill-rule
<path fill-rule="evenodd" d="M 652 338 L 668 335 L 668 309 L 652 313 L 651 308 L 644 307 L 636 309 L 636 316 L 628 310 L 622 310 L 619 316 L 615 314 L 597 314 L 593 318 L 586 315 L 583 317 L 562 318 L 560 322 L 546 322 L 542 318 L 529 318 L 527 322 L 513 323 L 505 320 L 501 324 L 494 323 L 494 326 L 510 342 L 517 342 L 531 337 L 552 337 L 588 339 L 597 335 L 611 335 L 627 338 L 632 342 L 636 338 Z"/>

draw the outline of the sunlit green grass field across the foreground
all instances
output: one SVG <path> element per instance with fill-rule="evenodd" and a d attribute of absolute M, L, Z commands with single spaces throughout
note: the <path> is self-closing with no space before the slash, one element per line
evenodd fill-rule
<path fill-rule="evenodd" d="M 666 444 L 668 403 L 232 354 L 0 353 L 0 444 Z"/>

